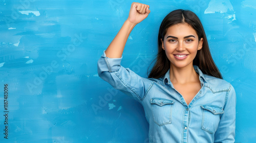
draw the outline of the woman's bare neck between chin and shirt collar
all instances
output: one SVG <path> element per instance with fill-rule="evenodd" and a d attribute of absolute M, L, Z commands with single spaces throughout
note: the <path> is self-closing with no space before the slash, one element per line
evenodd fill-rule
<path fill-rule="evenodd" d="M 199 77 L 193 64 L 189 64 L 185 67 L 179 68 L 174 65 L 170 65 L 170 81 L 173 84 L 186 84 L 190 82 L 198 82 Z"/>

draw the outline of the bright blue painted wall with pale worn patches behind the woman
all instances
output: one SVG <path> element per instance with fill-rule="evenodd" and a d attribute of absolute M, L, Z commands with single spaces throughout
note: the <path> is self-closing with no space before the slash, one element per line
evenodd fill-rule
<path fill-rule="evenodd" d="M 194 11 L 237 92 L 236 142 L 255 141 L 256 1 L 138 2 L 151 13 L 131 33 L 122 65 L 146 77 L 161 20 L 175 9 Z M 0 142 L 148 142 L 142 106 L 97 75 L 131 3 L 0 1 Z"/>

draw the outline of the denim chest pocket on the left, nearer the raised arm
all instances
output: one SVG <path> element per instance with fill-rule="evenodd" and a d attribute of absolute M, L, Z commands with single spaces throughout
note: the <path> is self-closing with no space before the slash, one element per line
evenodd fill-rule
<path fill-rule="evenodd" d="M 152 98 L 150 102 L 153 119 L 157 125 L 162 126 L 172 123 L 172 108 L 175 101 Z"/>

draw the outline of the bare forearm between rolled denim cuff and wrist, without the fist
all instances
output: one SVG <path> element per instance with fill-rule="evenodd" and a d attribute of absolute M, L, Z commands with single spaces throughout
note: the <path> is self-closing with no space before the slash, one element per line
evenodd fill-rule
<path fill-rule="evenodd" d="M 133 28 L 136 26 L 135 23 L 126 20 L 123 26 L 117 33 L 116 37 L 110 43 L 105 51 L 106 57 L 109 58 L 121 58 L 125 43 L 132 32 Z"/>

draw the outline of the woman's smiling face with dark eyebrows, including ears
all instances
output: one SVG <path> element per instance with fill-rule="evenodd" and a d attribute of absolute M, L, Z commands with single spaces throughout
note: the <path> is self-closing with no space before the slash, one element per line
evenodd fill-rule
<path fill-rule="evenodd" d="M 169 27 L 161 41 L 170 66 L 178 68 L 193 66 L 197 51 L 201 50 L 203 45 L 203 38 L 199 41 L 196 31 L 187 23 Z"/>

